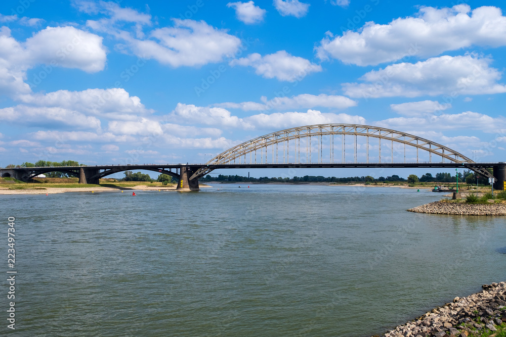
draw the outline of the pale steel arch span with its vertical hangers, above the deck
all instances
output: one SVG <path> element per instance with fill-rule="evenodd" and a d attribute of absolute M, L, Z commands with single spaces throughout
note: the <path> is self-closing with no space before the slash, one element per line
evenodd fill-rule
<path fill-rule="evenodd" d="M 462 164 L 480 175 L 493 177 L 486 167 L 472 165 L 475 162 L 470 158 L 409 133 L 369 125 L 317 124 L 280 130 L 243 142 L 208 161 L 190 180 L 220 167 L 315 167 L 313 164 L 321 164 L 316 167 L 433 167 L 437 164 L 441 166 L 435 167 L 455 167 L 454 164 Z"/>

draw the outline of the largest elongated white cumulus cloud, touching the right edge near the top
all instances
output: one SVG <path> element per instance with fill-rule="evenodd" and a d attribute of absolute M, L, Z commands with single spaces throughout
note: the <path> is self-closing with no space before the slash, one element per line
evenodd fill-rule
<path fill-rule="evenodd" d="M 427 58 L 472 45 L 506 45 L 506 17 L 500 8 L 422 7 L 415 17 L 386 25 L 367 22 L 358 31 L 348 30 L 340 36 L 327 32 L 316 50 L 322 60 L 334 58 L 366 66 L 408 56 Z"/>

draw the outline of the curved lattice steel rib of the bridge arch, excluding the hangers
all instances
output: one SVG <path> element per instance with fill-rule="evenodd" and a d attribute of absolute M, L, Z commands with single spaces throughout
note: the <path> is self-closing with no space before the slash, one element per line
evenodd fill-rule
<path fill-rule="evenodd" d="M 353 135 L 389 140 L 429 152 L 453 163 L 474 163 L 470 158 L 431 140 L 392 129 L 359 124 L 316 124 L 276 131 L 245 141 L 209 160 L 205 167 L 198 169 L 190 179 L 200 178 L 211 172 L 209 165 L 227 164 L 241 157 L 277 145 L 285 141 L 324 135 Z M 284 150 L 283 150 L 284 152 Z M 311 159 L 311 158 L 310 158 Z M 380 157 L 381 161 L 381 157 Z M 478 174 L 492 176 L 485 168 L 469 166 Z"/>

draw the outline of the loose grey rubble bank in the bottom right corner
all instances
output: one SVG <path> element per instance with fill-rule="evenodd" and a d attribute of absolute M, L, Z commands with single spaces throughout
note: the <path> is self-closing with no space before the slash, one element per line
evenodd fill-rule
<path fill-rule="evenodd" d="M 506 282 L 483 285 L 483 291 L 408 322 L 383 334 L 385 337 L 473 336 L 484 329 L 496 331 L 506 322 Z"/>

